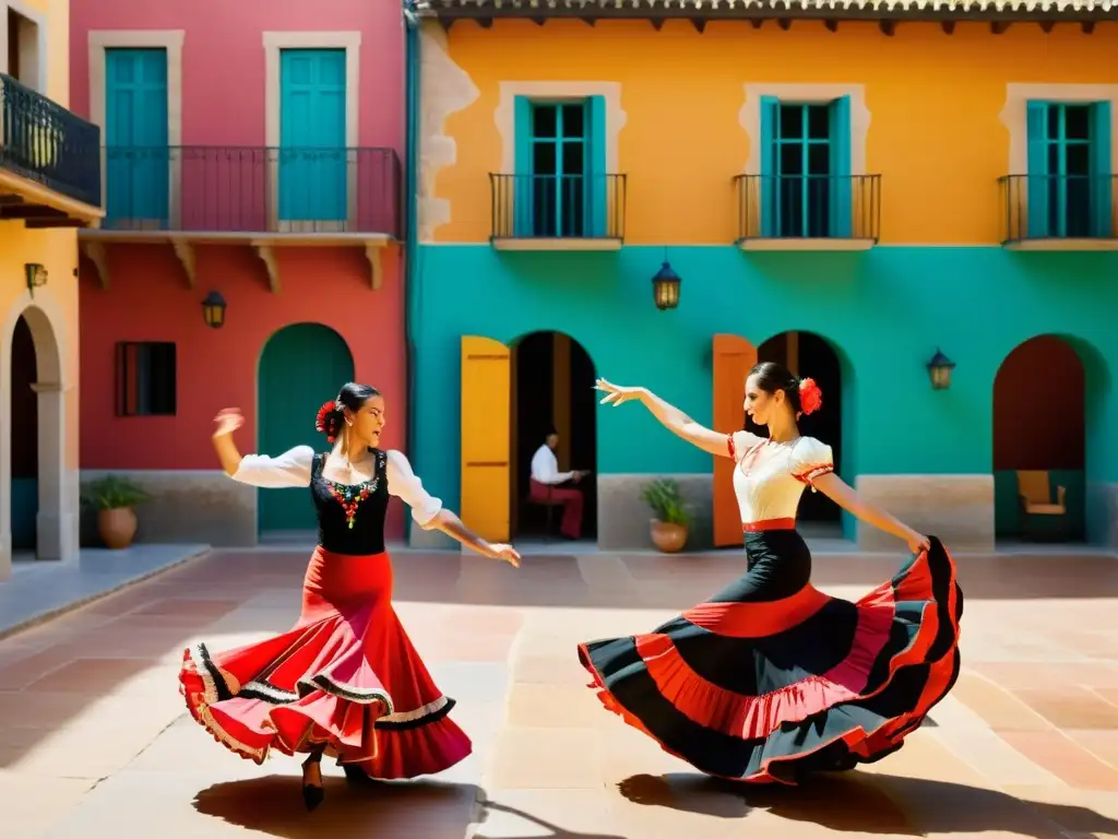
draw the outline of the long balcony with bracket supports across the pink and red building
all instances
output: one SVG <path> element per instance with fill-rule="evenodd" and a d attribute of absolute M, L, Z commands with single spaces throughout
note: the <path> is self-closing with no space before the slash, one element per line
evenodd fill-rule
<path fill-rule="evenodd" d="M 82 244 L 106 287 L 106 244 L 164 242 L 190 287 L 195 245 L 243 243 L 264 262 L 273 291 L 276 247 L 363 247 L 376 290 L 381 252 L 401 238 L 392 149 L 110 147 L 102 155 L 105 219 Z"/>

